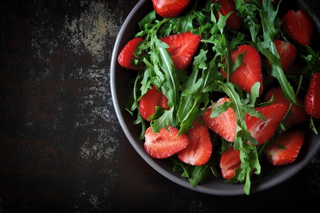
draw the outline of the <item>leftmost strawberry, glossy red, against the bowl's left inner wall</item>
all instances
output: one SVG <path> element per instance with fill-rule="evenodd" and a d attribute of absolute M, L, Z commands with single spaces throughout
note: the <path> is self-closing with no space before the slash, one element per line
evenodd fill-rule
<path fill-rule="evenodd" d="M 136 46 L 139 45 L 139 42 L 143 41 L 143 38 L 136 37 L 131 39 L 122 49 L 118 56 L 118 62 L 121 66 L 128 68 L 128 69 L 134 69 L 134 70 L 141 70 L 141 68 L 135 66 L 131 63 L 132 60 L 136 59 L 136 57 L 133 55 Z"/>

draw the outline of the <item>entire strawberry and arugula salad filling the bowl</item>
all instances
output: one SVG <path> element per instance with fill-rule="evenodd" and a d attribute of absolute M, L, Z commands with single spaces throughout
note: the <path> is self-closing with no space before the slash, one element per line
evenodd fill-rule
<path fill-rule="evenodd" d="M 172 159 L 192 186 L 222 176 L 249 194 L 261 160 L 295 161 L 305 138 L 297 126 L 317 134 L 314 22 L 285 2 L 152 0 L 119 54 L 145 151 Z"/>

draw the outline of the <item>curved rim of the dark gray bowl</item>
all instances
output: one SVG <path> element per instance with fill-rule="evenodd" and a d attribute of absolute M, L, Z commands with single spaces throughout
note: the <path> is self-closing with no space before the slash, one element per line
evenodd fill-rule
<path fill-rule="evenodd" d="M 302 5 L 302 7 L 309 9 L 310 12 L 313 15 L 313 18 L 315 19 L 315 27 L 317 32 L 320 32 L 320 20 L 317 16 L 317 14 L 313 11 L 312 8 L 310 8 L 310 6 L 303 0 L 296 0 L 296 2 L 300 3 Z M 111 63 L 110 63 L 110 88 L 111 88 L 111 97 L 112 97 L 112 102 L 113 102 L 113 106 L 115 108 L 119 123 L 126 135 L 126 137 L 128 138 L 128 140 L 130 141 L 131 145 L 133 146 L 133 148 L 139 153 L 139 155 L 154 169 L 156 170 L 158 173 L 162 174 L 163 176 L 165 176 L 166 178 L 168 178 L 169 180 L 184 186 L 186 188 L 189 188 L 193 191 L 196 192 L 200 192 L 200 193 L 204 193 L 204 194 L 211 194 L 211 195 L 218 195 L 218 196 L 238 196 L 238 195 L 245 195 L 244 190 L 243 190 L 243 184 L 227 184 L 228 190 L 223 189 L 215 189 L 215 188 L 208 188 L 206 184 L 198 184 L 195 187 L 192 187 L 188 181 L 188 179 L 186 178 L 181 178 L 180 173 L 175 174 L 175 172 L 168 172 L 167 170 L 165 170 L 162 165 L 159 165 L 159 163 L 157 162 L 157 160 L 159 159 L 155 159 L 150 157 L 144 149 L 142 149 L 141 146 L 138 145 L 139 141 L 136 141 L 136 138 L 133 137 L 133 135 L 131 134 L 130 130 L 130 125 L 132 124 L 127 124 L 125 122 L 125 117 L 123 113 L 128 113 L 126 112 L 124 109 L 120 108 L 120 104 L 119 104 L 119 99 L 118 99 L 118 93 L 116 90 L 116 79 L 115 79 L 115 75 L 116 75 L 116 68 L 117 66 L 119 66 L 118 63 L 118 54 L 121 51 L 120 47 L 120 43 L 124 42 L 121 41 L 121 38 L 123 36 L 123 34 L 125 33 L 128 25 L 130 25 L 130 20 L 131 18 L 136 15 L 136 12 L 139 12 L 140 8 L 144 5 L 144 4 L 150 4 L 148 3 L 148 0 L 140 0 L 134 7 L 133 9 L 130 11 L 130 13 L 128 14 L 128 16 L 126 17 L 125 21 L 123 22 L 123 25 L 118 33 L 115 45 L 113 46 L 113 51 L 112 51 L 112 56 L 111 56 Z M 140 14 L 140 17 L 142 18 L 143 15 Z M 132 120 L 133 121 L 133 120 Z M 319 125 L 317 126 L 317 129 L 319 128 Z M 141 142 L 141 141 L 140 141 Z M 303 160 L 301 162 L 299 162 L 298 164 L 295 164 L 295 167 L 293 171 L 291 171 L 288 174 L 285 175 L 280 175 L 280 176 L 276 176 L 277 178 L 274 178 L 272 180 L 267 180 L 266 182 L 263 182 L 262 184 L 257 184 L 254 187 L 252 186 L 250 188 L 250 194 L 254 194 L 257 192 L 261 192 L 264 190 L 267 190 L 268 188 L 271 188 L 273 186 L 276 186 L 282 182 L 284 182 L 285 180 L 291 178 L 293 175 L 295 175 L 296 173 L 298 173 L 299 171 L 301 171 L 302 168 L 305 167 L 306 164 L 308 164 L 311 160 L 311 158 L 313 156 L 315 156 L 315 154 L 318 152 L 318 150 L 320 150 L 320 140 L 319 143 L 316 144 L 316 146 L 314 147 L 314 149 L 311 149 L 309 152 L 309 154 L 306 156 L 306 158 L 303 158 Z M 290 166 L 290 165 L 289 165 Z M 226 184 L 226 183 L 225 183 Z M 241 187 L 239 187 L 239 185 L 241 185 Z"/>

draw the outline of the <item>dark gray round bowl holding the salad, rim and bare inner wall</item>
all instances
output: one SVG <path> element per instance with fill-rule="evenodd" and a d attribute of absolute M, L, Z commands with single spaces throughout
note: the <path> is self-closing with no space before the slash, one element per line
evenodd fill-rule
<path fill-rule="evenodd" d="M 285 1 L 286 2 L 286 1 Z M 304 1 L 287 1 L 290 2 L 289 8 L 309 8 L 310 7 Z M 132 117 L 125 110 L 125 101 L 128 97 L 129 91 L 128 78 L 129 73 L 122 68 L 118 63 L 118 55 L 121 52 L 123 46 L 132 39 L 133 35 L 138 32 L 138 21 L 144 17 L 148 12 L 153 9 L 150 0 L 141 0 L 130 12 L 128 17 L 123 23 L 117 37 L 115 47 L 112 52 L 111 68 L 110 68 L 110 86 L 113 105 L 120 122 L 120 125 L 129 139 L 134 149 L 148 162 L 153 169 L 160 174 L 164 175 L 168 179 L 180 184 L 184 187 L 190 188 L 191 190 L 221 196 L 232 196 L 232 195 L 244 195 L 243 184 L 228 184 L 224 182 L 222 177 L 207 178 L 202 184 L 196 187 L 190 186 L 189 181 L 186 178 L 182 178 L 180 173 L 173 172 L 173 164 L 169 159 L 155 159 L 150 157 L 144 149 L 144 141 L 139 139 L 141 130 L 139 127 L 132 125 L 134 117 Z M 312 9 L 310 9 L 311 12 Z M 315 13 L 314 18 L 316 20 L 316 31 L 320 32 L 320 21 Z M 316 32 L 315 32 L 316 33 Z M 294 163 L 285 165 L 277 172 L 271 172 L 270 164 L 265 160 L 261 162 L 261 177 L 253 176 L 250 194 L 266 190 L 267 188 L 276 186 L 294 174 L 299 172 L 305 165 L 311 160 L 311 158 L 320 149 L 320 136 L 314 135 L 308 128 L 308 125 L 301 125 L 301 128 L 305 129 L 306 138 L 301 149 L 301 152 Z M 316 123 L 316 129 L 320 130 L 320 125 Z M 320 131 L 319 131 L 320 132 Z"/>

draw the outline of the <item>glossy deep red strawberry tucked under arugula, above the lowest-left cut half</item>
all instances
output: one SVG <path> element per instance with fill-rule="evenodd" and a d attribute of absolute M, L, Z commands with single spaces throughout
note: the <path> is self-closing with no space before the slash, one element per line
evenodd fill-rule
<path fill-rule="evenodd" d="M 142 117 L 149 121 L 148 117 L 155 112 L 156 106 L 166 108 L 166 110 L 170 109 L 167 97 L 153 85 L 152 89 L 149 89 L 140 100 L 139 110 Z"/>

